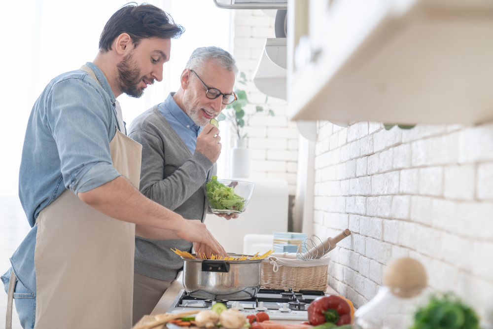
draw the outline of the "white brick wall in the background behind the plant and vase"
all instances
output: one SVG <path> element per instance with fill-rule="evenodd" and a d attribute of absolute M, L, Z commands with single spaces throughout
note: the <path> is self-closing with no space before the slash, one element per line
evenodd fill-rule
<path fill-rule="evenodd" d="M 298 129 L 287 120 L 286 102 L 269 97 L 265 104 L 265 94 L 261 93 L 251 78 L 257 68 L 265 38 L 275 37 L 274 19 L 260 10 L 234 10 L 234 52 L 240 72 L 245 72 L 246 85 L 239 85 L 246 91 L 248 100 L 253 103 L 246 107 L 253 113 L 255 106 L 272 109 L 275 116 L 261 113 L 253 116 L 249 126 L 248 148 L 250 150 L 250 176 L 255 178 L 283 178 L 288 182 L 289 194 L 296 193 L 296 173 L 298 161 Z M 353 128 L 354 129 L 354 128 Z M 328 143 L 328 142 L 327 142 Z"/>

